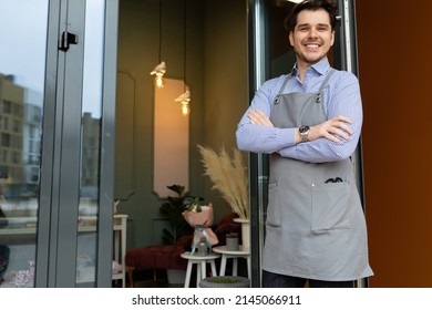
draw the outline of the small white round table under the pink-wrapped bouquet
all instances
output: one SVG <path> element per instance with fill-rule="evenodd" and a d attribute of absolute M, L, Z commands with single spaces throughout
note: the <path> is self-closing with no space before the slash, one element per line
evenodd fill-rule
<path fill-rule="evenodd" d="M 183 258 L 187 259 L 185 288 L 189 287 L 191 273 L 192 273 L 192 268 L 193 268 L 194 264 L 197 265 L 196 287 L 199 287 L 199 281 L 203 280 L 204 278 L 206 278 L 206 273 L 207 273 L 206 265 L 207 264 L 210 264 L 210 266 L 212 266 L 212 273 L 214 276 L 217 275 L 215 259 L 219 258 L 220 254 L 212 252 L 212 254 L 207 254 L 205 256 L 199 256 L 196 252 L 194 255 L 191 255 L 191 252 L 186 251 L 186 252 L 183 252 L 181 256 Z"/>

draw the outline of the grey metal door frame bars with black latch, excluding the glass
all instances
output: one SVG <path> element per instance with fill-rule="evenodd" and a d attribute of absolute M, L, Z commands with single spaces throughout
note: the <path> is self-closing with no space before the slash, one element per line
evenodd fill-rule
<path fill-rule="evenodd" d="M 75 287 L 86 0 L 50 0 L 35 287 Z M 105 0 L 96 287 L 111 287 L 119 0 Z M 63 31 L 78 44 L 59 50 Z"/>

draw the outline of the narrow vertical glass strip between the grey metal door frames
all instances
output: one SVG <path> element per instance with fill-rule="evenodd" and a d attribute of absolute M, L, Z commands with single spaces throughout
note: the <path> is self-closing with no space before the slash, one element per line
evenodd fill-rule
<path fill-rule="evenodd" d="M 76 282 L 86 286 L 95 286 L 96 272 L 103 24 L 104 0 L 86 1 L 76 257 Z M 89 226 L 92 227 L 90 230 Z"/>

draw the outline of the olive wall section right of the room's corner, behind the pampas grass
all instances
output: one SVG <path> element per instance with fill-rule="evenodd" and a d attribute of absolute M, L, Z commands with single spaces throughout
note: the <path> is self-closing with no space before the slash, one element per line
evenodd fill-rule
<path fill-rule="evenodd" d="M 206 2 L 205 144 L 215 151 L 225 147 L 233 155 L 237 124 L 249 106 L 247 1 Z M 212 189 L 208 178 L 205 180 L 205 195 L 210 197 L 215 214 L 220 217 L 229 213 L 220 194 Z"/>

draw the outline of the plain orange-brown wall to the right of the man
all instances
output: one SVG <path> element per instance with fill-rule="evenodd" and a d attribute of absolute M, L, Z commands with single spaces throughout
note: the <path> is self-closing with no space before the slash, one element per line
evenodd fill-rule
<path fill-rule="evenodd" d="M 432 1 L 358 0 L 371 287 L 432 287 Z"/>

